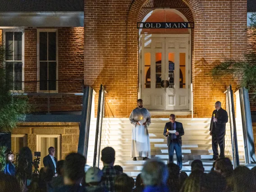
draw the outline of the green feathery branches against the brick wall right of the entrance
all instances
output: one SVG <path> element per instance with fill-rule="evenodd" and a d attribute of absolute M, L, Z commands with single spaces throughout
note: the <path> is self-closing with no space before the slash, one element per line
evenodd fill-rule
<path fill-rule="evenodd" d="M 256 96 L 256 53 L 246 54 L 242 60 L 225 59 L 210 71 L 214 79 L 227 75 L 237 77 L 241 87 L 246 87 Z"/>

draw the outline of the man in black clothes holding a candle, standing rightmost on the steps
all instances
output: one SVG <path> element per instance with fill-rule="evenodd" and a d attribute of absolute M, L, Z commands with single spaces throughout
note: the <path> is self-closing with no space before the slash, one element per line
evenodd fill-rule
<path fill-rule="evenodd" d="M 215 110 L 212 113 L 210 121 L 210 135 L 211 135 L 211 145 L 213 151 L 213 158 L 210 160 L 217 160 L 219 157 L 225 157 L 225 133 L 226 133 L 226 123 L 228 122 L 228 113 L 226 110 L 221 108 L 221 102 L 217 101 L 215 103 Z M 218 151 L 218 144 L 220 153 Z"/>

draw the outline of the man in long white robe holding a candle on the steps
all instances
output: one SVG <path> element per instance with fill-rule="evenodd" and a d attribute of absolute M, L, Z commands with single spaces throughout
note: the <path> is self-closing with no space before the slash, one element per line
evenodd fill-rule
<path fill-rule="evenodd" d="M 129 117 L 133 125 L 131 157 L 133 160 L 137 160 L 137 157 L 143 157 L 143 160 L 146 160 L 151 157 L 147 130 L 151 123 L 151 114 L 143 108 L 142 99 L 137 100 L 137 106 Z"/>

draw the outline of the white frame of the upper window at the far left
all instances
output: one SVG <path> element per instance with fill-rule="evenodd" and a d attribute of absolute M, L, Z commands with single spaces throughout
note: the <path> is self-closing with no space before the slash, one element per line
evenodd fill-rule
<path fill-rule="evenodd" d="M 3 44 L 5 45 L 5 32 L 22 32 L 22 90 L 10 90 L 11 92 L 24 92 L 24 80 L 25 80 L 25 36 L 24 36 L 24 28 L 5 28 L 2 30 L 3 32 Z M 15 62 L 15 61 L 14 61 Z M 5 63 L 4 63 L 5 67 Z"/>

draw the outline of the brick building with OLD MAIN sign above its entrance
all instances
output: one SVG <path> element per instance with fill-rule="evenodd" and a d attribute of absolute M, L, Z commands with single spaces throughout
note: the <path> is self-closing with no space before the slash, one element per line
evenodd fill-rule
<path fill-rule="evenodd" d="M 2 1 L 6 6 L 0 8 L 0 42 L 12 53 L 6 59 L 10 89 L 24 91 L 36 106 L 13 131 L 14 148 L 16 138 L 17 147 L 23 142 L 32 151 L 59 145 L 59 159 L 77 150 L 74 116 L 81 112 L 82 85 L 96 91 L 95 106 L 105 85 L 108 118 L 127 118 L 138 98 L 155 118 L 170 112 L 209 118 L 215 101 L 225 106 L 226 87 L 238 88 L 231 77 L 214 81 L 210 69 L 224 58 L 241 59 L 256 46 L 247 30 L 247 11 L 256 10 L 252 0 L 38 3 Z M 194 27 L 138 29 L 137 22 Z"/>

